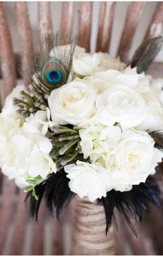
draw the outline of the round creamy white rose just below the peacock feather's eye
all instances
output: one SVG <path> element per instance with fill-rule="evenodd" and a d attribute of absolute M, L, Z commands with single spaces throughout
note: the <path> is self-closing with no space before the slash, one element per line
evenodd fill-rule
<path fill-rule="evenodd" d="M 54 89 L 48 97 L 52 121 L 81 125 L 95 112 L 96 91 L 93 84 L 81 79 Z"/>

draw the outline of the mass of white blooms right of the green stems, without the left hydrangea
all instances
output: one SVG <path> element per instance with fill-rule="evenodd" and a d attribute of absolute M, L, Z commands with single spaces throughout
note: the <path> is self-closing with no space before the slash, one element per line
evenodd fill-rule
<path fill-rule="evenodd" d="M 77 77 L 48 98 L 52 121 L 79 129 L 87 161 L 64 168 L 70 189 L 92 201 L 145 182 L 163 157 L 146 132 L 163 128 L 163 80 L 79 47 L 73 71 Z"/>

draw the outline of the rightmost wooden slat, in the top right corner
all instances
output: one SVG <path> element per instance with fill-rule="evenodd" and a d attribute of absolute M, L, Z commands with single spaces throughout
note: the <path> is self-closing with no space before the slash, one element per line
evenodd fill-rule
<path fill-rule="evenodd" d="M 151 37 L 156 37 L 157 35 L 160 35 L 162 32 L 162 26 L 163 2 L 158 2 L 153 17 L 151 19 L 151 23 L 149 24 L 148 30 L 146 31 L 144 40 L 148 40 Z"/>

